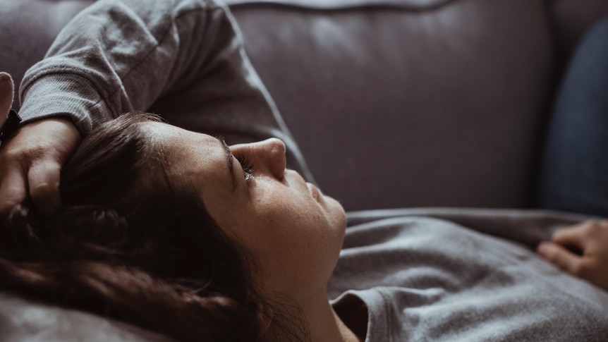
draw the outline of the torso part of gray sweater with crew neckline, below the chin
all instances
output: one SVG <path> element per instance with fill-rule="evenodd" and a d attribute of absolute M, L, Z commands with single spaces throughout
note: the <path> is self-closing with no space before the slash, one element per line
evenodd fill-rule
<path fill-rule="evenodd" d="M 365 303 L 365 341 L 608 341 L 608 293 L 531 249 L 581 217 L 403 209 L 349 218 L 328 293 L 339 313 Z"/>

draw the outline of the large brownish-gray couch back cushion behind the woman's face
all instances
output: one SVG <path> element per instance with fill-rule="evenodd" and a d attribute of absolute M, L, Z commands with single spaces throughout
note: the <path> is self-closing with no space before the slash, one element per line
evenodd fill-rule
<path fill-rule="evenodd" d="M 529 204 L 554 81 L 542 1 L 233 11 L 317 182 L 347 209 Z"/>

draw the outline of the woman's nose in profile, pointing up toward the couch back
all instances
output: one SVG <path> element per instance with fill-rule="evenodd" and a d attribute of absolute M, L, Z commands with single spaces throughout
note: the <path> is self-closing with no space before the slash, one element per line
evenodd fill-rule
<path fill-rule="evenodd" d="M 285 158 L 285 143 L 276 138 L 270 138 L 249 144 L 233 145 L 233 153 L 242 154 L 253 164 L 253 174 L 267 173 L 279 181 L 285 175 L 287 161 Z"/>

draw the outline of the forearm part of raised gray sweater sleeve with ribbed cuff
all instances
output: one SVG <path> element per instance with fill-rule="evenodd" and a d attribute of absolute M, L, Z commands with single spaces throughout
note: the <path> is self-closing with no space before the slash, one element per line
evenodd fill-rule
<path fill-rule="evenodd" d="M 101 121 L 145 110 L 204 75 L 225 18 L 205 0 L 98 1 L 25 74 L 20 115 L 24 122 L 68 116 L 87 134 Z"/>

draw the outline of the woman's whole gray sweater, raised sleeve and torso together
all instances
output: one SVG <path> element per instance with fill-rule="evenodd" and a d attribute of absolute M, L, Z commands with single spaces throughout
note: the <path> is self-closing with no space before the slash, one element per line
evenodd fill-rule
<path fill-rule="evenodd" d="M 97 1 L 26 73 L 20 96 L 25 122 L 68 116 L 83 134 L 152 110 L 230 142 L 275 136 L 308 174 L 233 18 L 211 0 Z M 608 341 L 607 293 L 530 250 L 578 218 L 419 214 L 350 216 L 328 294 L 338 312 L 365 304 L 367 341 Z"/>

